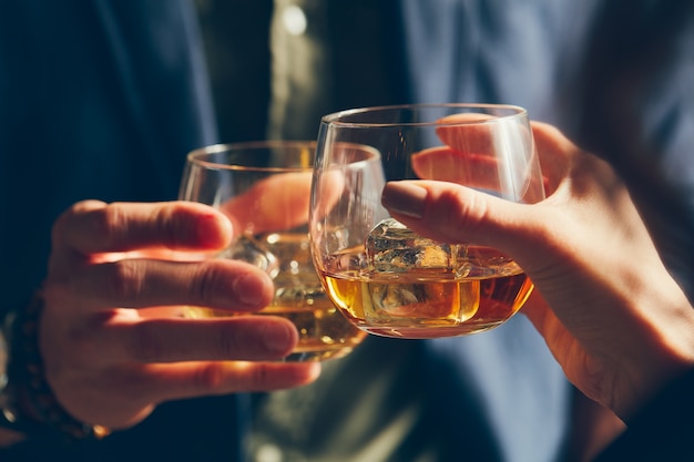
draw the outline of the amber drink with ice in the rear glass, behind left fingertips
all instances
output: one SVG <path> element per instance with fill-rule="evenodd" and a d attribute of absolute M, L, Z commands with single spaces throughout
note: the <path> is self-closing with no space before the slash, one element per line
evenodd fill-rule
<path fill-rule="evenodd" d="M 323 361 L 341 358 L 361 342 L 367 332 L 349 322 L 330 301 L 310 260 L 308 236 L 273 233 L 254 238 L 254 251 L 274 255 L 278 267 L 274 276 L 275 298 L 258 315 L 289 319 L 299 341 L 285 361 Z M 231 311 L 191 308 L 188 317 L 247 316 Z"/>

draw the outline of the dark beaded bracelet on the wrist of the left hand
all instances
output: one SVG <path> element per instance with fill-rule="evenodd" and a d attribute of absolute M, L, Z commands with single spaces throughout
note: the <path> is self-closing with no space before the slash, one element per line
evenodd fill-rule
<path fill-rule="evenodd" d="M 70 415 L 58 402 L 43 374 L 43 361 L 39 350 L 39 317 L 43 298 L 37 294 L 29 306 L 16 314 L 8 329 L 9 363 L 8 393 L 12 397 L 3 414 L 16 423 L 18 431 L 28 435 L 58 432 L 69 440 L 101 439 L 110 431 L 101 425 L 90 425 Z M 29 405 L 38 420 L 23 417 L 18 404 Z"/>

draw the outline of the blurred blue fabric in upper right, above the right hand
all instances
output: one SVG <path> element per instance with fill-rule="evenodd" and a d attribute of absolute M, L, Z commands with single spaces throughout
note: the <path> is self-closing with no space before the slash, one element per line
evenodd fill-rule
<path fill-rule="evenodd" d="M 411 100 L 518 104 L 611 161 L 694 299 L 694 2 L 401 4 Z"/>

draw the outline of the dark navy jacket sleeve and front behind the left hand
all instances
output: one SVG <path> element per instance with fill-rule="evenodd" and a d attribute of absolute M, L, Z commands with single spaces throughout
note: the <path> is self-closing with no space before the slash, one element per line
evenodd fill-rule
<path fill-rule="evenodd" d="M 217 141 L 200 50 L 185 0 L 0 2 L 3 312 L 40 285 L 50 225 L 73 202 L 176 197 L 186 152 Z M 31 441 L 0 459 L 238 459 L 239 398 L 167 403 L 99 444 Z"/>

